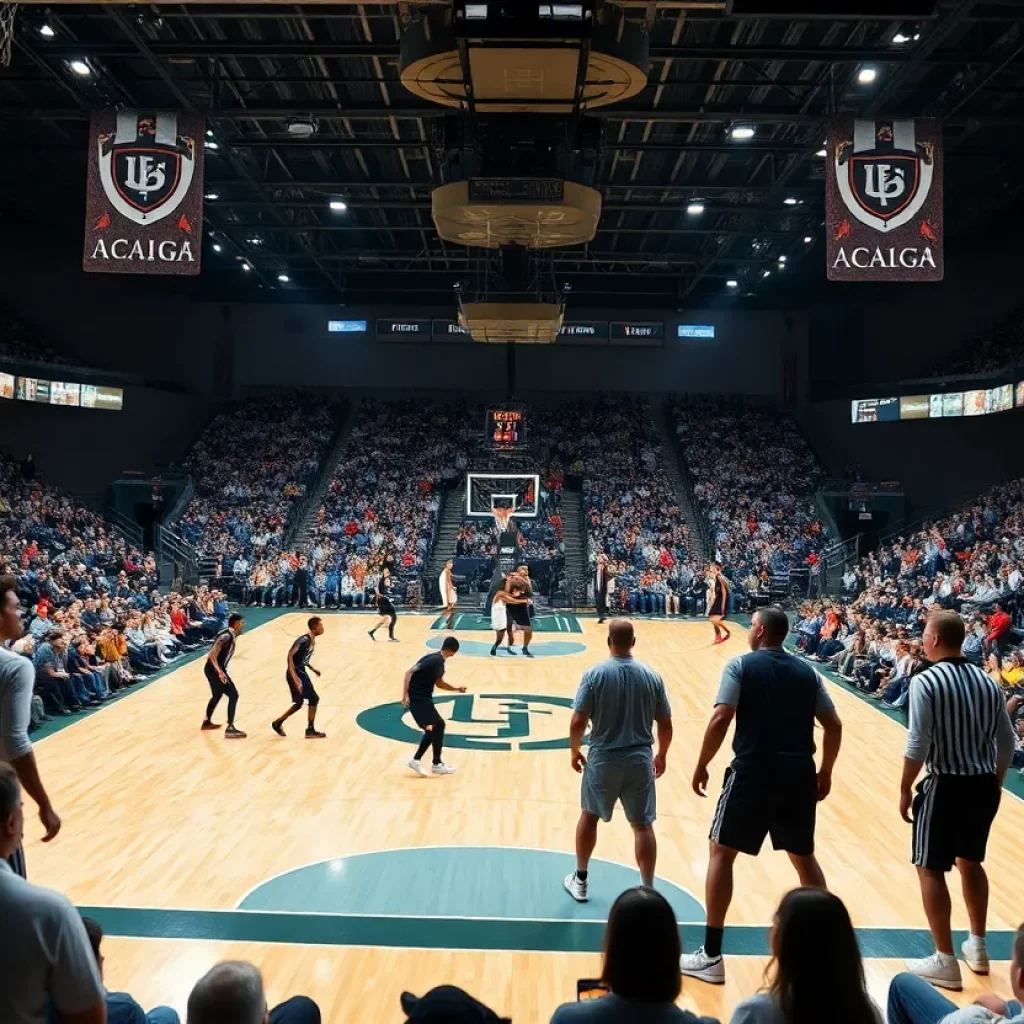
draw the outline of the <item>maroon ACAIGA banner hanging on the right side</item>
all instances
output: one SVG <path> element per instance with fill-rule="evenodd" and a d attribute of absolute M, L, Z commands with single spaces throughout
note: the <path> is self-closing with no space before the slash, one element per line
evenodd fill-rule
<path fill-rule="evenodd" d="M 941 281 L 942 127 L 931 118 L 828 124 L 829 281 Z"/>

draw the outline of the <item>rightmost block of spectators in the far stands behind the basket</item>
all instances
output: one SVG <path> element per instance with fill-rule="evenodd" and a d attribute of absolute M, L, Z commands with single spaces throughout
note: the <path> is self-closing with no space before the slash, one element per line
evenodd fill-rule
<path fill-rule="evenodd" d="M 744 590 L 817 565 L 825 542 L 814 493 L 824 477 L 788 417 L 720 397 L 676 402 L 676 434 L 716 559 Z"/>

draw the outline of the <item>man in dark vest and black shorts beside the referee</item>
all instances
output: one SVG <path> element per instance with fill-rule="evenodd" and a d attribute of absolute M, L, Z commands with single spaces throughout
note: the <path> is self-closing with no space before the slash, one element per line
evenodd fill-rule
<path fill-rule="evenodd" d="M 722 933 L 732 900 L 732 867 L 740 853 L 757 856 L 765 836 L 785 850 L 802 886 L 825 888 L 814 856 L 817 802 L 831 790 L 843 725 L 821 677 L 782 650 L 790 621 L 781 608 L 759 608 L 748 641 L 750 654 L 722 672 L 715 711 L 693 772 L 693 792 L 706 797 L 708 765 L 732 720 L 735 755 L 711 826 L 711 858 L 705 884 L 708 924 L 703 945 L 683 953 L 683 974 L 713 985 L 725 983 Z M 814 767 L 814 721 L 824 730 L 821 767 Z"/>

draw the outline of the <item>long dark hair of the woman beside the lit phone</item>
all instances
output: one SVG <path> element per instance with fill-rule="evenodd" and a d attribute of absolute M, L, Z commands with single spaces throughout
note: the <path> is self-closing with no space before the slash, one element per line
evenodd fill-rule
<path fill-rule="evenodd" d="M 675 911 L 660 893 L 637 886 L 611 904 L 601 977 L 615 995 L 675 1002 L 682 987 L 681 952 Z"/>

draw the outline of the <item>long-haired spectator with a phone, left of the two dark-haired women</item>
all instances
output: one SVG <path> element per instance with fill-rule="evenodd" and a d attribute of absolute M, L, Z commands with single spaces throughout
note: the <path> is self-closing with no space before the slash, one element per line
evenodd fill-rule
<path fill-rule="evenodd" d="M 669 901 L 645 886 L 627 889 L 611 904 L 604 932 L 601 981 L 609 994 L 560 1006 L 551 1024 L 718 1024 L 676 1006 L 681 952 Z"/>

